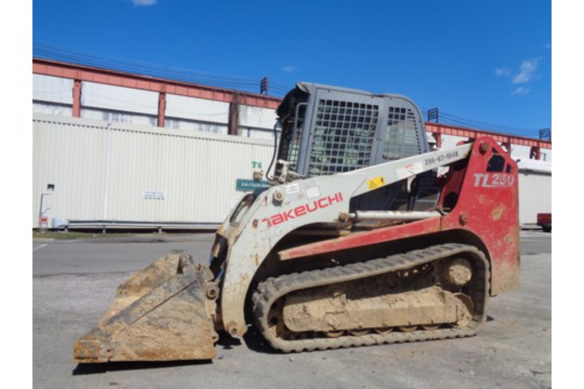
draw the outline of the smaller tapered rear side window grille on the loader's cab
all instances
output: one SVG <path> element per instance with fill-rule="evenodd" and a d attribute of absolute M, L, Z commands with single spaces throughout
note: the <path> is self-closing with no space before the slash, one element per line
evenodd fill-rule
<path fill-rule="evenodd" d="M 422 153 L 418 121 L 409 108 L 388 107 L 383 157 L 396 160 Z"/>

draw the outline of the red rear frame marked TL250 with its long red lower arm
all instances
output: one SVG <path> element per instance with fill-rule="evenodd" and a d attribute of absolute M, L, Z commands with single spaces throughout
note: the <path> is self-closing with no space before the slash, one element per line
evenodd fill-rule
<path fill-rule="evenodd" d="M 503 171 L 487 171 L 489 160 L 496 154 L 505 159 Z M 495 139 L 481 137 L 474 142 L 466 166 L 460 170 L 452 168 L 444 177 L 439 206 L 447 205 L 444 204 L 447 197 L 458 198 L 446 215 L 305 244 L 280 251 L 280 259 L 312 257 L 439 232 L 461 232 L 467 243 L 485 251 L 491 263 L 491 295 L 498 295 L 519 286 L 518 180 L 515 161 Z"/>

